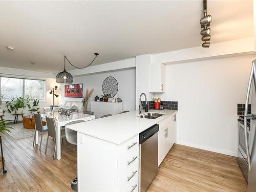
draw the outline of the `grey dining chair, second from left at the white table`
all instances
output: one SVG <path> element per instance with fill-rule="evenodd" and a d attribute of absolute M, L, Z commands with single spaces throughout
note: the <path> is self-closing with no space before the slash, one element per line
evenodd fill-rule
<path fill-rule="evenodd" d="M 46 116 L 46 123 L 48 126 L 48 136 L 47 136 L 47 142 L 46 142 L 46 151 L 45 154 L 47 152 L 47 147 L 48 147 L 48 141 L 49 141 L 49 136 L 52 137 L 55 141 L 55 145 L 54 145 L 54 153 L 53 153 L 53 159 L 55 159 L 55 155 L 56 155 L 56 125 L 55 125 L 55 121 L 54 118 L 51 117 L 47 117 Z M 65 136 L 65 130 L 60 130 L 60 137 L 64 137 Z"/>

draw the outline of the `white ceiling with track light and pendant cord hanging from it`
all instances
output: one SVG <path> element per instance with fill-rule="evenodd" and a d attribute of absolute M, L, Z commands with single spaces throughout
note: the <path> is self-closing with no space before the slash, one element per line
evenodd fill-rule
<path fill-rule="evenodd" d="M 252 1 L 208 0 L 208 14 L 211 43 L 253 36 Z M 202 1 L 1 1 L 0 66 L 57 73 L 64 53 L 82 67 L 196 47 L 202 16 Z"/>

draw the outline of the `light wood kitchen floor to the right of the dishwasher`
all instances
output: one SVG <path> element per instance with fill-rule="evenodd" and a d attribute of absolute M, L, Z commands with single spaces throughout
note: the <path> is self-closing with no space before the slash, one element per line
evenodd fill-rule
<path fill-rule="evenodd" d="M 247 191 L 236 157 L 175 144 L 147 192 Z"/>

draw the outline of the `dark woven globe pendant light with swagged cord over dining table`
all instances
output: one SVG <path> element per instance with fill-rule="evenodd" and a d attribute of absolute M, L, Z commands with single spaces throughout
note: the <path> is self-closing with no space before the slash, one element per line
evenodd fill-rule
<path fill-rule="evenodd" d="M 56 75 L 56 82 L 57 82 L 57 83 L 73 83 L 73 77 L 72 77 L 72 75 L 66 71 L 66 59 L 67 59 L 67 61 L 70 63 L 70 65 L 73 66 L 74 68 L 77 68 L 77 69 L 84 69 L 84 68 L 89 67 L 89 66 L 93 63 L 93 61 L 96 59 L 96 57 L 97 57 L 99 54 L 98 54 L 98 53 L 94 53 L 94 55 L 95 55 L 94 59 L 92 60 L 92 62 L 91 62 L 88 66 L 79 68 L 79 67 L 76 67 L 76 66 L 72 65 L 72 63 L 71 63 L 71 62 L 69 61 L 69 59 L 66 57 L 66 54 L 64 54 L 64 71 L 59 72 L 59 73 Z"/>

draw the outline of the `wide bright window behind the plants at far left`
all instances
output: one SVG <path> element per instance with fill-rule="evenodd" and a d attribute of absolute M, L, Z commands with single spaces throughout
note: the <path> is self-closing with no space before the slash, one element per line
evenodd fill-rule
<path fill-rule="evenodd" d="M 13 97 L 29 97 L 31 100 L 45 100 L 45 80 L 0 77 L 1 92 L 6 101 Z"/>

